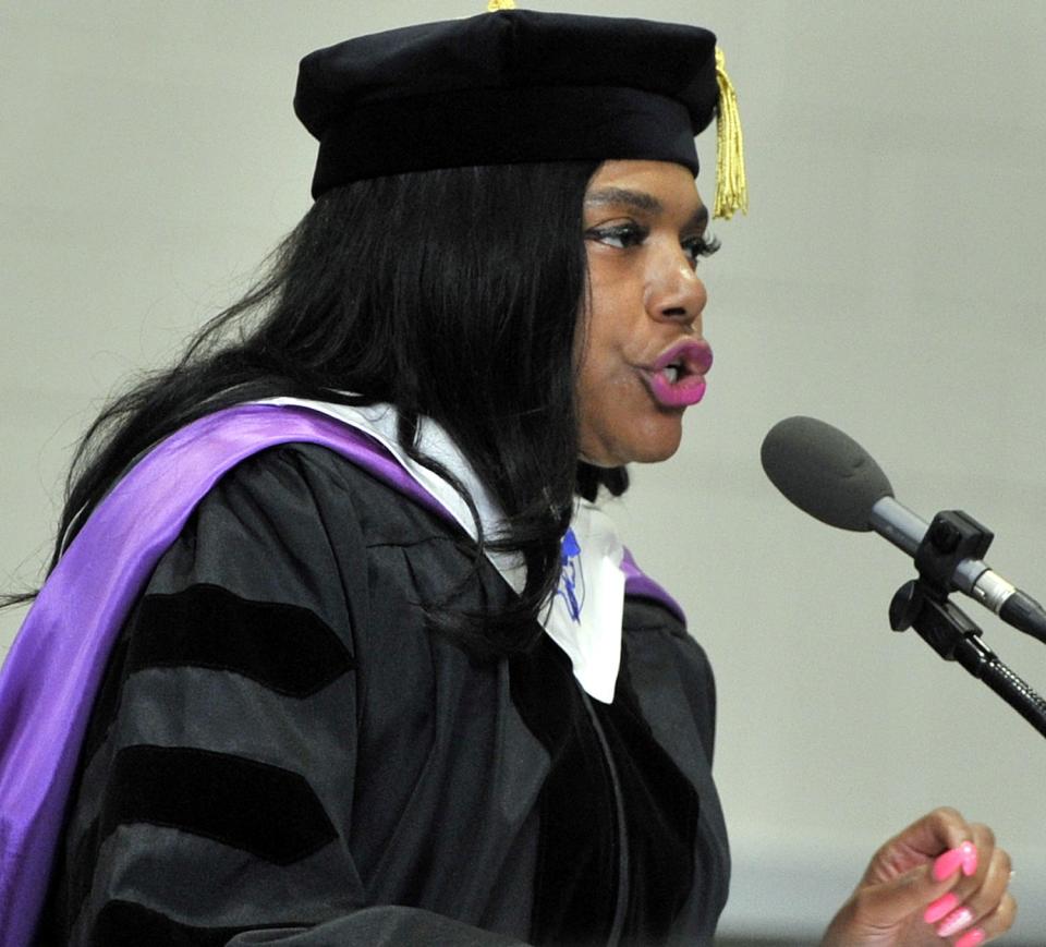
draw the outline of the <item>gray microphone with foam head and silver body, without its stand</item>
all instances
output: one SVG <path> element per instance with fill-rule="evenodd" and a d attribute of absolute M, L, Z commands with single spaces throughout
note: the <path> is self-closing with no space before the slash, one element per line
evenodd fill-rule
<path fill-rule="evenodd" d="M 824 421 L 796 416 L 778 422 L 763 440 L 761 459 L 774 486 L 829 526 L 874 530 L 913 557 L 931 529 L 893 499 L 893 487 L 872 456 Z M 1046 642 L 1043 607 L 986 562 L 964 558 L 949 581 L 1004 621 Z"/>

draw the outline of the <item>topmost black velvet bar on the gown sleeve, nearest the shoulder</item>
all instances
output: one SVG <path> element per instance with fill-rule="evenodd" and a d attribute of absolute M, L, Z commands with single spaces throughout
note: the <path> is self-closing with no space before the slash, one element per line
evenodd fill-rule
<path fill-rule="evenodd" d="M 251 602 L 217 585 L 148 595 L 136 617 L 127 673 L 193 666 L 234 671 L 307 697 L 353 667 L 337 634 L 308 609 Z"/>

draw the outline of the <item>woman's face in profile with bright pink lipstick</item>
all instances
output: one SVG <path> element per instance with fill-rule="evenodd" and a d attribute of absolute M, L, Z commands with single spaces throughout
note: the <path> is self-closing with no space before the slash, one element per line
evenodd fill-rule
<path fill-rule="evenodd" d="M 607 161 L 585 192 L 589 295 L 577 337 L 582 458 L 598 466 L 666 460 L 701 400 L 711 350 L 695 272 L 708 213 L 691 172 Z M 714 247 L 713 247 L 714 248 Z"/>

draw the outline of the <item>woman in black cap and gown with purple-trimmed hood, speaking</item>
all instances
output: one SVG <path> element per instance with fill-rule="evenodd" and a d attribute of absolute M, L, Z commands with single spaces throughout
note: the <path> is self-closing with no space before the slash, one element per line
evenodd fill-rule
<path fill-rule="evenodd" d="M 710 940 L 710 670 L 592 501 L 704 392 L 714 43 L 502 11 L 303 61 L 316 204 L 92 430 L 7 670 L 63 711 L 4 943 Z M 983 943 L 1008 874 L 939 810 L 825 943 Z"/>

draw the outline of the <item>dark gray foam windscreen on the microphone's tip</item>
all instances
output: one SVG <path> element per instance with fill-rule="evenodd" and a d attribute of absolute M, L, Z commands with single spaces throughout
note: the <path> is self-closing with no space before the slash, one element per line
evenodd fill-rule
<path fill-rule="evenodd" d="M 815 417 L 779 421 L 763 440 L 761 454 L 774 486 L 829 526 L 867 532 L 876 500 L 893 496 L 872 456 Z"/>

